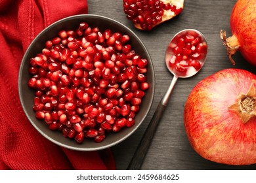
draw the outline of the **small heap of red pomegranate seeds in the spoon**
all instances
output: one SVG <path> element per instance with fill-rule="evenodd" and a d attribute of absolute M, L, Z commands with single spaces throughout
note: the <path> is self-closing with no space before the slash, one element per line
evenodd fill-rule
<path fill-rule="evenodd" d="M 207 44 L 197 33 L 185 33 L 179 37 L 172 48 L 173 56 L 169 65 L 176 71 L 186 73 L 188 69 L 201 69 L 200 60 L 205 57 Z"/>

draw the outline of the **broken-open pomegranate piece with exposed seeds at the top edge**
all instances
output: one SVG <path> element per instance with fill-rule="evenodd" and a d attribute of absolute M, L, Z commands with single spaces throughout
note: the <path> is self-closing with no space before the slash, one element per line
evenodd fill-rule
<path fill-rule="evenodd" d="M 137 29 L 151 30 L 182 12 L 184 0 L 123 0 L 123 10 Z"/>

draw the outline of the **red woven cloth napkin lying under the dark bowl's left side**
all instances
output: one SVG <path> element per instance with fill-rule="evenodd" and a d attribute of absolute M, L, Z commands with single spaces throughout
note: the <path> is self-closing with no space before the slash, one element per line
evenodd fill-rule
<path fill-rule="evenodd" d="M 110 149 L 77 152 L 45 139 L 18 97 L 18 71 L 30 42 L 56 20 L 87 12 L 86 0 L 0 0 L 0 169 L 116 169 Z"/>

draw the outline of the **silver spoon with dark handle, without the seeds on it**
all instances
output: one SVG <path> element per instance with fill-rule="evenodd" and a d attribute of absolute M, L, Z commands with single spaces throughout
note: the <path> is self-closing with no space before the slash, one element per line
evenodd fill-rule
<path fill-rule="evenodd" d="M 173 88 L 178 80 L 178 78 L 188 78 L 191 76 L 196 75 L 198 71 L 202 68 L 203 64 L 206 60 L 206 54 L 207 50 L 205 50 L 205 54 L 202 55 L 202 58 L 199 60 L 201 67 L 200 69 L 196 70 L 194 67 L 188 67 L 186 72 L 179 72 L 175 69 L 175 67 L 171 67 L 170 65 L 170 59 L 173 57 L 173 48 L 177 46 L 177 39 L 181 37 L 182 35 L 185 35 L 186 33 L 191 33 L 192 35 L 198 35 L 202 39 L 202 42 L 207 45 L 205 37 L 203 36 L 200 31 L 197 31 L 195 29 L 184 29 L 177 33 L 173 39 L 171 39 L 171 42 L 168 44 L 167 50 L 165 52 L 165 63 L 167 65 L 167 68 L 169 71 L 173 74 L 173 80 L 171 81 L 171 84 L 163 96 L 163 98 L 160 101 L 160 104 L 156 108 L 156 111 L 152 117 L 152 120 L 150 121 L 150 124 L 148 124 L 148 127 L 146 131 L 144 132 L 144 135 L 140 141 L 139 146 L 137 147 L 137 150 L 135 151 L 135 154 L 133 155 L 133 158 L 131 159 L 127 169 L 140 169 L 142 166 L 142 163 L 144 161 L 144 157 L 146 156 L 146 153 L 148 152 L 148 148 L 150 146 L 150 143 L 152 142 L 152 139 L 154 137 L 154 133 L 156 132 L 156 128 L 158 127 L 158 124 L 160 122 L 161 116 L 163 115 L 163 112 L 167 106 L 167 103 L 169 101 L 169 97 L 171 96 L 171 92 L 173 91 Z M 207 47 L 206 47 L 207 48 Z"/>

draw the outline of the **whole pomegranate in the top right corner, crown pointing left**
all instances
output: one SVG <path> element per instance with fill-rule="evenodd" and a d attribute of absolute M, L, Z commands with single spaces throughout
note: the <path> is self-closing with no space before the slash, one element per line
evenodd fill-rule
<path fill-rule="evenodd" d="M 235 65 L 232 55 L 240 51 L 242 56 L 256 66 L 256 1 L 238 0 L 230 16 L 232 37 L 226 39 L 221 30 L 221 39 L 226 46 L 230 61 Z"/>

